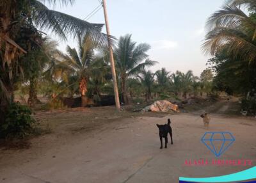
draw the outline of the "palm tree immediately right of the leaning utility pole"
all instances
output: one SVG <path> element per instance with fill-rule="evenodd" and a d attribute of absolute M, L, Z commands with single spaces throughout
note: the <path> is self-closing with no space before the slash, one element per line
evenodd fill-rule
<path fill-rule="evenodd" d="M 129 76 L 138 74 L 145 67 L 155 65 L 157 62 L 148 59 L 146 52 L 150 49 L 148 44 L 138 44 L 132 42 L 131 35 L 121 36 L 117 47 L 114 50 L 116 67 L 120 74 L 122 97 L 125 104 L 131 102 L 131 97 L 127 92 L 126 81 Z"/>

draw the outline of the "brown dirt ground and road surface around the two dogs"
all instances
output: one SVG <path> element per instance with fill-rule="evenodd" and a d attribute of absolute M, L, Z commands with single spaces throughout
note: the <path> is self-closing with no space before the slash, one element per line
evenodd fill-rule
<path fill-rule="evenodd" d="M 256 118 L 227 115 L 232 101 L 193 113 L 117 113 L 115 107 L 36 114 L 48 134 L 31 147 L 0 150 L 0 182 L 179 182 L 179 177 L 226 175 L 255 166 Z M 211 115 L 209 130 L 198 115 Z M 159 149 L 156 123 L 172 120 L 173 145 Z M 200 141 L 229 131 L 236 141 L 216 158 Z M 186 166 L 186 160 L 248 159 L 247 166 Z"/>

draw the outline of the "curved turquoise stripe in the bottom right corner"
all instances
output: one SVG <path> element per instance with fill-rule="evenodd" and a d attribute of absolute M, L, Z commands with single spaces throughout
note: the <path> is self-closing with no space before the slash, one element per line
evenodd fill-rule
<path fill-rule="evenodd" d="M 232 173 L 229 175 L 223 175 L 220 177 L 206 177 L 206 178 L 186 178 L 180 177 L 179 180 L 187 182 L 237 182 L 243 180 L 256 179 L 256 166 L 244 171 Z"/>

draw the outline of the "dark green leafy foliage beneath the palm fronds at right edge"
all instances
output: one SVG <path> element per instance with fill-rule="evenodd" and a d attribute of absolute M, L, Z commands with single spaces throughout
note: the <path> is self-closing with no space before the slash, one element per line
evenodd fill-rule
<path fill-rule="evenodd" d="M 213 80 L 215 90 L 246 95 L 252 88 L 256 88 L 256 68 L 249 67 L 248 61 L 230 58 L 223 50 L 217 52 L 208 63 L 216 73 Z"/>

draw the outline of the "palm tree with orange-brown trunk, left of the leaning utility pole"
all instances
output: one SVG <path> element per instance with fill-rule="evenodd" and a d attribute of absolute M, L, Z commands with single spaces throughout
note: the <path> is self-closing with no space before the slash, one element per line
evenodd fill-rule
<path fill-rule="evenodd" d="M 66 66 L 63 68 L 64 73 L 66 73 L 64 76 L 76 77 L 75 81 L 79 83 L 79 92 L 82 100 L 81 106 L 84 107 L 86 105 L 85 96 L 88 91 L 87 85 L 89 79 L 94 79 L 94 82 L 95 80 L 98 82 L 103 78 L 105 73 L 104 69 L 108 69 L 109 65 L 104 61 L 104 59 L 95 58 L 94 50 L 96 49 L 97 44 L 92 42 L 90 37 L 84 36 L 82 39 L 81 36 L 79 36 L 78 45 L 78 52 L 76 49 L 72 49 L 70 46 L 67 46 L 67 54 L 60 52 L 60 57 L 63 59 L 61 64 Z"/>

